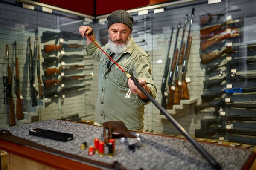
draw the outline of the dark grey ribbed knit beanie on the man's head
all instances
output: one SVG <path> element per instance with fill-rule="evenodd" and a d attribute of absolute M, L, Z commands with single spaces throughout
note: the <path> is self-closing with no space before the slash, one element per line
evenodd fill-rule
<path fill-rule="evenodd" d="M 108 17 L 108 29 L 114 23 L 123 23 L 127 25 L 132 31 L 133 17 L 125 10 L 116 10 L 112 12 Z"/>

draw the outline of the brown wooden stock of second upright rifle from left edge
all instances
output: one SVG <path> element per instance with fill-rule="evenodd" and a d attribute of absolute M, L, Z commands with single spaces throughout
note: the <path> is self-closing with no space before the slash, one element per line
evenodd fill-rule
<path fill-rule="evenodd" d="M 16 101 L 16 118 L 17 120 L 22 120 L 24 119 L 24 114 L 23 114 L 23 109 L 22 109 L 22 99 L 20 98 L 20 89 L 18 88 L 18 84 L 19 84 L 19 61 L 18 58 L 16 58 L 15 61 L 15 69 L 16 69 L 16 79 L 15 80 L 15 95 L 17 97 L 17 101 Z"/>

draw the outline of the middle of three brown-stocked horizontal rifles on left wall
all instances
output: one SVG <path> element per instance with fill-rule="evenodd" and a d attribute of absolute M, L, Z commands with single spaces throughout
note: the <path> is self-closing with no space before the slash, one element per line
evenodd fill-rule
<path fill-rule="evenodd" d="M 88 64 L 88 65 L 65 65 L 65 66 L 60 66 L 58 69 L 55 67 L 55 68 L 47 68 L 47 69 L 44 69 L 44 75 L 46 77 L 49 77 L 53 74 L 60 74 L 61 70 L 62 69 L 79 69 L 79 68 L 84 68 L 85 66 L 93 66 L 93 64 Z M 91 70 L 93 69 L 92 68 L 89 68 L 89 69 L 84 69 L 84 70 Z"/>

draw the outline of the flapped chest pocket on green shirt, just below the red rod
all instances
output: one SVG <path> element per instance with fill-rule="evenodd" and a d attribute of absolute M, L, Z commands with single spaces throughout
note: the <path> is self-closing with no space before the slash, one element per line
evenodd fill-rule
<path fill-rule="evenodd" d="M 119 66 L 121 66 L 122 69 L 125 70 L 125 72 L 128 71 L 128 66 L 125 66 L 124 64 L 119 64 Z M 122 70 L 115 64 L 113 64 L 113 66 L 111 67 L 110 80 L 119 86 L 128 85 L 128 78 L 126 77 L 125 73 L 122 72 Z"/>

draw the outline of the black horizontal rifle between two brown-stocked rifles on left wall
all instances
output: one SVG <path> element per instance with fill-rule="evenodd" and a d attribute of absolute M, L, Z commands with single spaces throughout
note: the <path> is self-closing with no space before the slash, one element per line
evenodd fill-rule
<path fill-rule="evenodd" d="M 44 57 L 44 65 L 50 64 L 50 63 L 61 63 L 61 61 L 64 61 L 65 59 L 91 59 L 91 56 L 88 55 L 88 58 L 84 58 L 84 55 L 61 55 L 59 57 Z"/>

